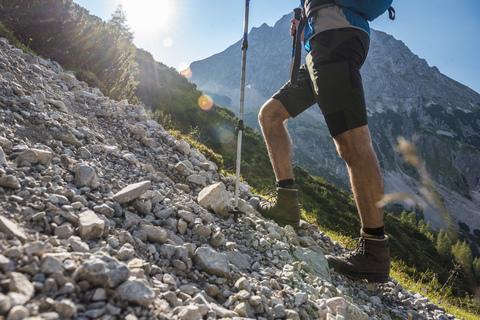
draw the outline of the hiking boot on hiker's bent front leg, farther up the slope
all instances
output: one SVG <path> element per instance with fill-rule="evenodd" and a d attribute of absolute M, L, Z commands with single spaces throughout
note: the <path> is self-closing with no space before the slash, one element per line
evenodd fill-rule
<path fill-rule="evenodd" d="M 298 205 L 298 190 L 277 188 L 276 201 L 260 201 L 255 208 L 262 216 L 272 219 L 279 226 L 291 225 L 297 230 L 300 222 L 300 206 Z"/>

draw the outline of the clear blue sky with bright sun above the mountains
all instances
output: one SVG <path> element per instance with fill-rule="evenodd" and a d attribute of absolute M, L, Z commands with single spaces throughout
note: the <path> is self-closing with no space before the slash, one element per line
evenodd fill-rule
<path fill-rule="evenodd" d="M 103 20 L 122 3 L 136 46 L 179 71 L 223 51 L 243 35 L 244 0 L 73 1 Z M 298 3 L 250 0 L 249 29 L 263 23 L 272 26 Z M 480 92 L 479 0 L 394 0 L 393 6 L 395 21 L 385 14 L 371 27 L 393 35 L 430 66 Z"/>

